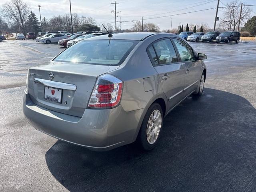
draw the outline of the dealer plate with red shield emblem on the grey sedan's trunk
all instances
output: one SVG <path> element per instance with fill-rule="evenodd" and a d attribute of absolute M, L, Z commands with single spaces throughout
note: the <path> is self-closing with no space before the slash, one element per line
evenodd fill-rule
<path fill-rule="evenodd" d="M 54 93 L 51 96 L 50 93 L 52 93 L 52 90 L 54 90 Z M 55 93 L 58 93 L 57 97 L 53 97 L 53 95 Z M 44 86 L 44 100 L 47 100 L 47 101 L 50 101 L 50 102 L 53 102 L 53 103 L 61 104 L 62 103 L 62 94 L 63 94 L 63 89 L 56 88 L 56 87 Z"/>

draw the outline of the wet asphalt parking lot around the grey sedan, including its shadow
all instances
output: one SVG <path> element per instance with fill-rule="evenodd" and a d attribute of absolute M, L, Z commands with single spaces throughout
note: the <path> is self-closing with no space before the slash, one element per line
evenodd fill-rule
<path fill-rule="evenodd" d="M 201 98 L 164 119 L 150 152 L 92 152 L 51 138 L 22 114 L 27 69 L 64 50 L 0 43 L 0 191 L 256 191 L 256 42 L 189 42 L 208 55 Z"/>

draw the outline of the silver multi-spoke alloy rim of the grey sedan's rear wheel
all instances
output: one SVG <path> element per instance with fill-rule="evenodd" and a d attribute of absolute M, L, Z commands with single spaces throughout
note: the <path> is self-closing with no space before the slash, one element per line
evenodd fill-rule
<path fill-rule="evenodd" d="M 154 144 L 156 142 L 161 127 L 162 115 L 161 112 L 158 109 L 156 109 L 150 115 L 146 129 L 146 136 L 149 144 Z"/>

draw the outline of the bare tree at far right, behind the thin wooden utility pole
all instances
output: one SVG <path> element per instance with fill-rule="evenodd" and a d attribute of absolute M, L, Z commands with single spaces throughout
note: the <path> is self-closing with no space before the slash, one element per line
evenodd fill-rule
<path fill-rule="evenodd" d="M 239 22 L 239 16 L 240 16 L 240 5 L 241 2 L 232 1 L 227 4 L 227 7 L 224 8 L 224 17 L 220 18 L 220 28 L 224 28 L 229 31 L 236 30 L 236 27 L 238 26 Z M 240 24 L 244 24 L 245 20 L 247 20 L 250 17 L 251 9 L 247 6 L 242 7 L 242 14 L 241 14 L 241 21 Z"/>

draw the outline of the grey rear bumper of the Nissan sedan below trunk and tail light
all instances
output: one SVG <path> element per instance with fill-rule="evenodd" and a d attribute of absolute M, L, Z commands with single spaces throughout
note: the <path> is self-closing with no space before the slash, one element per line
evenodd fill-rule
<path fill-rule="evenodd" d="M 34 128 L 45 134 L 90 150 L 106 151 L 136 140 L 144 109 L 125 112 L 121 105 L 86 109 L 80 118 L 37 106 L 24 92 L 23 113 Z"/>

